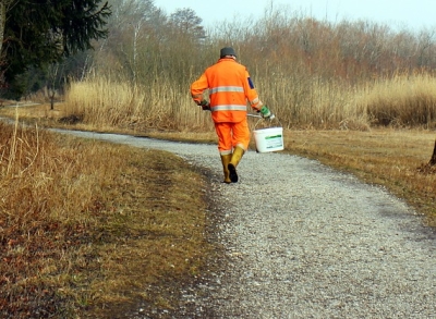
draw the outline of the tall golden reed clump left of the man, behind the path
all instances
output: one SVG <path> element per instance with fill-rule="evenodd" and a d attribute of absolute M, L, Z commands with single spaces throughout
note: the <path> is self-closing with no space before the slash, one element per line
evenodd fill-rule
<path fill-rule="evenodd" d="M 189 90 L 168 79 L 145 86 L 106 76 L 88 78 L 72 83 L 65 100 L 68 112 L 96 127 L 198 130 L 209 125 Z"/>

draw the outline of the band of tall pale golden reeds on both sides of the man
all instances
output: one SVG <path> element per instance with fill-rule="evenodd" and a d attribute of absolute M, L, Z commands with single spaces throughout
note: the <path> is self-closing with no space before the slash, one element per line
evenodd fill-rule
<path fill-rule="evenodd" d="M 355 87 L 320 77 L 277 73 L 257 78 L 256 84 L 261 99 L 287 128 L 435 125 L 436 79 L 425 73 L 376 78 Z M 107 77 L 75 82 L 68 91 L 66 108 L 96 126 L 180 131 L 211 126 L 209 114 L 193 103 L 189 86 L 168 81 L 157 79 L 148 87 Z"/>

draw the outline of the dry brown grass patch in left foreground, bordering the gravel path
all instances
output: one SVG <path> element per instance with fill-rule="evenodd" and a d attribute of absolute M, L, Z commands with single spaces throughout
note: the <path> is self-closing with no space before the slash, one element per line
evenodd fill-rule
<path fill-rule="evenodd" d="M 173 307 L 156 287 L 208 255 L 203 177 L 169 154 L 0 125 L 0 317 Z"/>

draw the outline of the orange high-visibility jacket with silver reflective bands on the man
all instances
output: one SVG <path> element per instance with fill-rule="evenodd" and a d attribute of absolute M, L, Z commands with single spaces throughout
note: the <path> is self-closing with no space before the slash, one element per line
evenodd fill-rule
<path fill-rule="evenodd" d="M 249 71 L 231 58 L 218 60 L 191 85 L 191 96 L 194 101 L 199 102 L 203 99 L 203 91 L 207 88 L 215 123 L 241 122 L 246 118 L 247 101 L 255 110 L 261 110 L 263 107 Z"/>

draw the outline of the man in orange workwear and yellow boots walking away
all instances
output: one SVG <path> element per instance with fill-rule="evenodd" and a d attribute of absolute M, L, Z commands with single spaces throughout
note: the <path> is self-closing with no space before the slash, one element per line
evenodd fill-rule
<path fill-rule="evenodd" d="M 209 102 L 203 98 L 209 90 Z M 246 68 L 237 62 L 233 48 L 220 50 L 218 62 L 191 85 L 191 96 L 203 110 L 211 111 L 218 135 L 218 150 L 225 173 L 225 183 L 237 183 L 237 167 L 249 148 L 250 128 L 246 120 L 246 102 L 261 112 L 264 119 L 272 119 L 263 105 L 250 78 Z"/>

